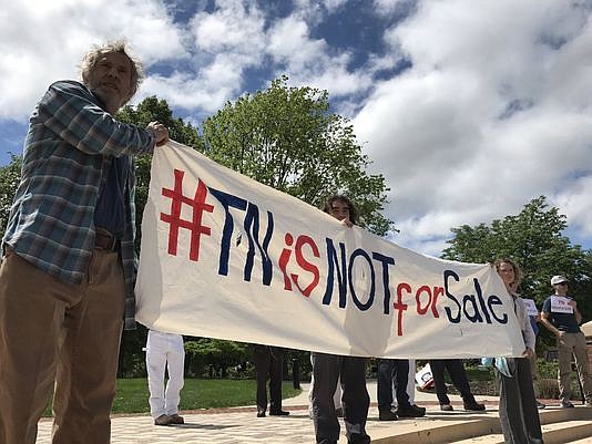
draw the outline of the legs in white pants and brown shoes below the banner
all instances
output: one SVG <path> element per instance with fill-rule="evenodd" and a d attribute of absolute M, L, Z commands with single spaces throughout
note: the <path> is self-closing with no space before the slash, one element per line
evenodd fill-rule
<path fill-rule="evenodd" d="M 149 330 L 146 341 L 146 370 L 150 390 L 150 414 L 154 425 L 183 424 L 178 415 L 181 389 L 185 366 L 185 349 L 183 337 Z M 164 388 L 164 370 L 169 372 L 166 389 Z"/>

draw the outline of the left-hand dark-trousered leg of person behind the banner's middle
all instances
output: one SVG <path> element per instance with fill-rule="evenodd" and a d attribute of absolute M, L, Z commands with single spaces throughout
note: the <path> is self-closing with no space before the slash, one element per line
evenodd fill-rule
<path fill-rule="evenodd" d="M 335 413 L 333 394 L 337 386 L 343 357 L 313 352 L 313 421 L 317 443 L 339 441 L 339 421 Z"/>

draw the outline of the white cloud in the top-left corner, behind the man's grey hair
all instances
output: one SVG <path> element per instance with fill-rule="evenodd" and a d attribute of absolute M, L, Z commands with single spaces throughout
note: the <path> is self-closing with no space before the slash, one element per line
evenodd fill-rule
<path fill-rule="evenodd" d="M 51 82 L 78 79 L 76 66 L 92 44 L 125 38 L 149 65 L 185 54 L 178 29 L 155 0 L 10 1 L 0 19 L 0 117 L 6 118 L 29 115 Z"/>

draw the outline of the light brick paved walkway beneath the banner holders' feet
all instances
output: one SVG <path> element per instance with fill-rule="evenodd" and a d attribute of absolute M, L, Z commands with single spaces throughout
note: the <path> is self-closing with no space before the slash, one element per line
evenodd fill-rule
<path fill-rule="evenodd" d="M 378 421 L 376 407 L 376 382 L 368 382 L 370 393 L 370 412 L 367 431 L 374 438 L 400 433 L 405 430 L 418 430 L 429 426 L 430 422 L 442 420 L 435 394 L 416 392 L 416 403 L 428 409 L 426 417 L 417 420 L 399 420 L 396 422 Z M 115 416 L 112 420 L 112 443 L 121 444 L 288 444 L 314 443 L 315 433 L 313 422 L 308 417 L 308 384 L 303 384 L 303 392 L 293 399 L 284 400 L 284 409 L 289 410 L 289 416 L 256 417 L 255 406 L 245 406 L 201 412 L 185 413 L 185 424 L 176 426 L 155 426 L 147 414 Z M 462 411 L 460 396 L 451 395 L 452 404 L 458 412 L 446 415 L 447 421 L 470 421 L 471 417 L 482 416 L 483 413 Z M 486 402 L 489 414 L 497 415 L 498 399 L 496 396 L 477 396 L 479 402 Z M 341 420 L 341 433 L 345 427 Z M 39 444 L 49 444 L 51 421 L 39 423 Z M 343 437 L 341 443 L 346 440 Z"/>

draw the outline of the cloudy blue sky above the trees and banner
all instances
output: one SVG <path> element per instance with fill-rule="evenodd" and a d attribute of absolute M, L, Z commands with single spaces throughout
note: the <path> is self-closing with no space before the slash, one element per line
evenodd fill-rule
<path fill-rule="evenodd" d="M 391 192 L 399 245 L 438 256 L 450 228 L 545 195 L 592 248 L 591 0 L 0 0 L 0 163 L 52 81 L 125 38 L 146 80 L 198 125 L 226 101 L 327 90 Z"/>

